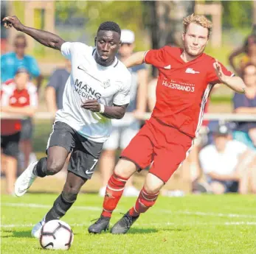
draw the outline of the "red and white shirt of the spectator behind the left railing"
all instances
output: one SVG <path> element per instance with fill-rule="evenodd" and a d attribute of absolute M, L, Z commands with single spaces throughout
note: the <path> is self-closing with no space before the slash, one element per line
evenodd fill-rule
<path fill-rule="evenodd" d="M 26 107 L 38 106 L 37 88 L 32 82 L 28 82 L 26 88 L 21 91 L 16 89 L 15 82 L 8 80 L 1 85 L 1 107 Z M 1 135 L 11 135 L 21 130 L 21 120 L 2 119 Z"/>

